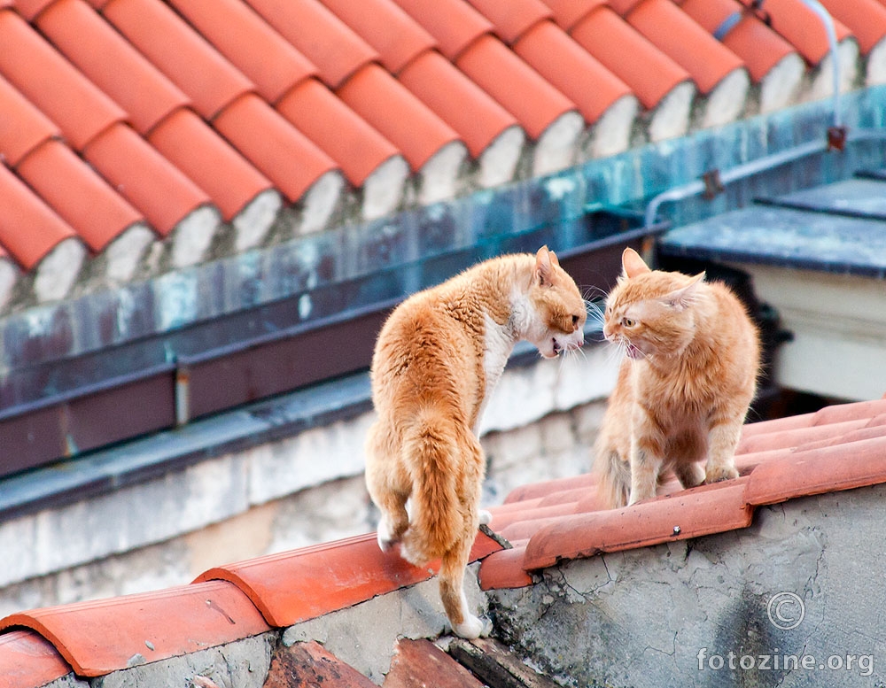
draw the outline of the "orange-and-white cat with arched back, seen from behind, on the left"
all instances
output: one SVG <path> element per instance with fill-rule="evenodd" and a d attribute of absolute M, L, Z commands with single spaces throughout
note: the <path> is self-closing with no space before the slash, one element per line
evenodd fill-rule
<path fill-rule="evenodd" d="M 469 268 L 397 306 L 382 327 L 370 378 L 377 419 L 366 483 L 381 512 L 378 545 L 424 566 L 440 560 L 439 594 L 452 629 L 477 638 L 462 588 L 481 522 L 486 459 L 478 424 L 514 345 L 546 359 L 584 344 L 584 300 L 553 251 L 510 254 Z"/>

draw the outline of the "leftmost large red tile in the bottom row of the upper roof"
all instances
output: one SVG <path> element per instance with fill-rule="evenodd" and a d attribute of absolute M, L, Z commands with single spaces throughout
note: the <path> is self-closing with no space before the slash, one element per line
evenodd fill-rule
<path fill-rule="evenodd" d="M 60 242 L 76 237 L 74 229 L 58 217 L 31 189 L 0 165 L 0 244 L 20 266 L 31 270 Z"/>

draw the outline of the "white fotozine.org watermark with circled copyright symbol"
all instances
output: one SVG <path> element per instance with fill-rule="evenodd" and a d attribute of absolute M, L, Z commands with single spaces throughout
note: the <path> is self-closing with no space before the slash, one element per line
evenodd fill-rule
<path fill-rule="evenodd" d="M 793 630 L 806 615 L 803 599 L 793 592 L 778 592 L 766 602 L 766 616 L 779 630 Z M 858 671 L 859 676 L 874 673 L 873 654 L 832 654 L 819 658 L 812 654 L 781 653 L 711 653 L 703 647 L 696 655 L 699 671 Z"/>

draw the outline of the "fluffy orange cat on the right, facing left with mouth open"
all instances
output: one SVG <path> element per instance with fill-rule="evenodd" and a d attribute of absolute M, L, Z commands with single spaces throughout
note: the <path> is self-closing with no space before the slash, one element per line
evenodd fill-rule
<path fill-rule="evenodd" d="M 602 506 L 738 477 L 734 452 L 754 398 L 758 330 L 705 274 L 651 270 L 633 249 L 606 299 L 603 336 L 625 353 L 595 443 Z"/>

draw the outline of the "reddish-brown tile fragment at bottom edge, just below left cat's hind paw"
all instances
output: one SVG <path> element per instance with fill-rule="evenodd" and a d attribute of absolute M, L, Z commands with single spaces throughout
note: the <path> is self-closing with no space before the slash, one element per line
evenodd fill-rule
<path fill-rule="evenodd" d="M 384 688 L 483 688 L 468 669 L 430 640 L 400 638 L 385 675 Z"/>

